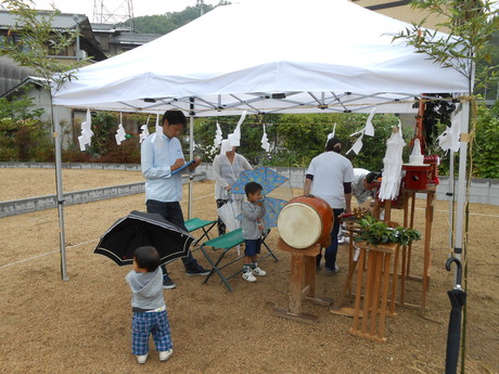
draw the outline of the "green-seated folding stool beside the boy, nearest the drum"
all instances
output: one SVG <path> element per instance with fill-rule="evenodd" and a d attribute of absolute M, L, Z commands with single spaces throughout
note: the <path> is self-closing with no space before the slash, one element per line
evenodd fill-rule
<path fill-rule="evenodd" d="M 269 256 L 272 256 L 273 259 L 276 261 L 278 261 L 278 258 L 276 257 L 276 255 L 273 254 L 273 252 L 269 248 L 269 246 L 267 245 L 267 243 L 265 243 L 265 240 L 267 238 L 267 236 L 264 236 L 261 238 L 261 244 L 267 248 L 267 250 L 269 252 L 267 255 L 265 256 L 261 256 L 259 260 L 263 260 Z M 238 230 L 234 230 L 234 231 L 230 231 L 228 232 L 227 234 L 223 234 L 223 235 L 220 235 L 218 237 L 215 237 L 215 238 L 212 238 L 205 243 L 203 243 L 200 247 L 201 252 L 203 253 L 203 255 L 206 257 L 206 259 L 208 260 L 208 262 L 212 265 L 213 269 L 212 271 L 209 272 L 208 275 L 206 275 L 206 279 L 204 280 L 203 283 L 206 283 L 208 282 L 209 278 L 214 274 L 214 273 L 217 273 L 218 276 L 220 276 L 220 280 L 223 282 L 223 284 L 226 285 L 227 288 L 229 288 L 230 292 L 233 292 L 231 285 L 229 284 L 229 280 L 235 275 L 238 275 L 239 273 L 241 273 L 243 271 L 242 267 L 240 270 L 238 270 L 235 273 L 233 274 L 230 274 L 228 276 L 225 276 L 222 273 L 221 273 L 221 270 L 223 270 L 225 268 L 227 268 L 228 266 L 241 260 L 244 258 L 244 255 L 240 255 L 238 256 L 236 258 L 234 258 L 233 260 L 225 263 L 223 266 L 219 266 L 221 260 L 223 259 L 223 257 L 226 256 L 226 254 L 232 249 L 233 247 L 240 245 L 244 243 L 244 238 L 243 238 L 243 229 L 238 229 Z M 216 248 L 219 248 L 219 249 L 223 249 L 220 254 L 220 256 L 218 257 L 218 259 L 216 259 L 216 261 L 207 254 L 207 252 L 205 250 L 206 247 L 212 247 L 213 249 L 216 249 Z"/>

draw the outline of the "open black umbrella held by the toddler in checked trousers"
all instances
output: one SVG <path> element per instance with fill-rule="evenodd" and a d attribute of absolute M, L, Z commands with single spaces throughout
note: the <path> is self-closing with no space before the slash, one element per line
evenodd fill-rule
<path fill-rule="evenodd" d="M 165 265 L 185 257 L 194 237 L 162 216 L 133 210 L 118 219 L 102 235 L 93 253 L 104 255 L 117 265 L 133 262 L 133 250 L 143 245 L 152 245 Z"/>

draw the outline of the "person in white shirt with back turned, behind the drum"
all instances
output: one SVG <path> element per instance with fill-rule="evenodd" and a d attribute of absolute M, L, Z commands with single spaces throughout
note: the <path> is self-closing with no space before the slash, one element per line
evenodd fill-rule
<path fill-rule="evenodd" d="M 345 156 L 342 156 L 342 143 L 337 138 L 331 138 L 325 144 L 325 152 L 315 157 L 308 167 L 304 194 L 312 194 L 323 198 L 333 209 L 334 224 L 331 231 L 331 245 L 325 248 L 325 272 L 332 275 L 340 271 L 336 265 L 337 233 L 340 222 L 337 217 L 350 212 L 351 182 L 354 168 Z M 320 268 L 322 255 L 317 256 L 317 267 Z"/>

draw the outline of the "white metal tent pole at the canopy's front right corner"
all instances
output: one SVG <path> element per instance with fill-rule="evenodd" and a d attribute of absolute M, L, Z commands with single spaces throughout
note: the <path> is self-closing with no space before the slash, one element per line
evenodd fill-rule
<path fill-rule="evenodd" d="M 463 223 L 464 208 L 466 203 L 466 160 L 468 160 L 468 139 L 462 139 L 468 134 L 470 121 L 470 102 L 465 101 L 461 111 L 461 145 L 459 149 L 459 181 L 458 181 L 458 212 L 456 217 L 456 238 L 455 238 L 455 257 L 461 260 L 463 252 Z M 468 233 L 464 233 L 468 235 Z M 455 285 L 457 273 L 455 274 Z"/>

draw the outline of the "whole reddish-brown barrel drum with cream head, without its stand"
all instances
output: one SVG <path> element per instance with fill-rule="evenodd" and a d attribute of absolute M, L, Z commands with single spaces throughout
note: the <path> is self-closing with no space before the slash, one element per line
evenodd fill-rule
<path fill-rule="evenodd" d="M 329 246 L 333 211 L 320 197 L 298 196 L 291 199 L 278 217 L 281 238 L 291 247 L 304 249 L 320 244 Z"/>

